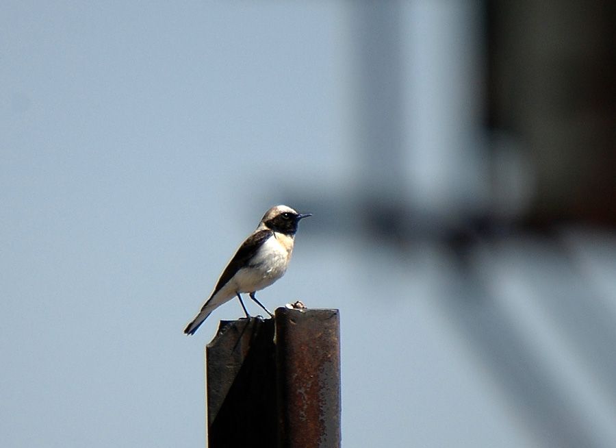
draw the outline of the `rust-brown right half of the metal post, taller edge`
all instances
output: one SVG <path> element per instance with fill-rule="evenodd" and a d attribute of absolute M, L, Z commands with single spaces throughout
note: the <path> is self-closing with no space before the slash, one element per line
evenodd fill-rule
<path fill-rule="evenodd" d="M 338 310 L 278 308 L 275 321 L 279 447 L 339 447 Z"/>

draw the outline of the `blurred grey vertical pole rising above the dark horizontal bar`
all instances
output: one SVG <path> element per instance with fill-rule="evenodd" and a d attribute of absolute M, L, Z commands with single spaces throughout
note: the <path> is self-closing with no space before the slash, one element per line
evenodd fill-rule
<path fill-rule="evenodd" d="M 357 110 L 361 177 L 368 193 L 397 198 L 404 147 L 400 60 L 400 1 L 358 1 L 354 42 L 357 50 Z"/>

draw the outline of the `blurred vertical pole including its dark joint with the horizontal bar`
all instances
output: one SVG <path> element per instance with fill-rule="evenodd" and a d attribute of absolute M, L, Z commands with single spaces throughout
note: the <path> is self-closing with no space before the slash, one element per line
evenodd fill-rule
<path fill-rule="evenodd" d="M 405 139 L 400 95 L 401 6 L 398 0 L 358 1 L 350 5 L 357 61 L 357 197 L 365 227 L 376 232 L 376 236 L 396 240 L 406 233 L 401 213 L 394 213 L 402 209 L 404 199 L 400 195 Z"/>

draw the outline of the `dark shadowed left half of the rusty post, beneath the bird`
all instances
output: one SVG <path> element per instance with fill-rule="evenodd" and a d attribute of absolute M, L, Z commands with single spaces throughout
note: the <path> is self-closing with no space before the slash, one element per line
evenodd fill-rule
<path fill-rule="evenodd" d="M 207 446 L 277 444 L 274 319 L 221 321 L 205 349 Z"/>

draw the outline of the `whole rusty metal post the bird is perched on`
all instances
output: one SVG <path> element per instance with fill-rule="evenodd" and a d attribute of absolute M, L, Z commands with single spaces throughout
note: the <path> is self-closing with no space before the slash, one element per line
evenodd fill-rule
<path fill-rule="evenodd" d="M 205 356 L 209 448 L 340 446 L 337 310 L 221 321 Z"/>

